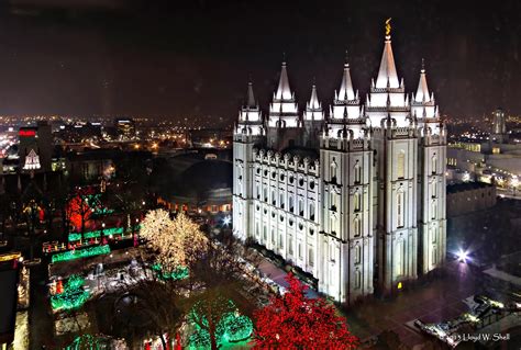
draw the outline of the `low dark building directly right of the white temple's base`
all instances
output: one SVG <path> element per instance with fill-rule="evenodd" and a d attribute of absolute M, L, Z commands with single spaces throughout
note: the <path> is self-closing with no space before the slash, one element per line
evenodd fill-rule
<path fill-rule="evenodd" d="M 484 182 L 447 185 L 447 217 L 485 211 L 496 205 L 496 187 Z"/>

